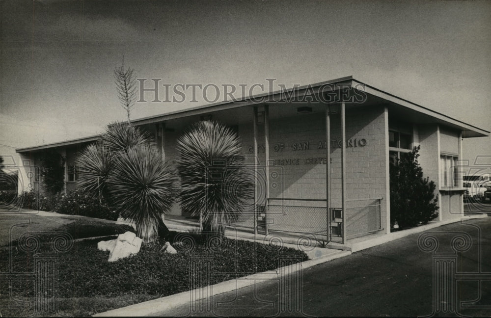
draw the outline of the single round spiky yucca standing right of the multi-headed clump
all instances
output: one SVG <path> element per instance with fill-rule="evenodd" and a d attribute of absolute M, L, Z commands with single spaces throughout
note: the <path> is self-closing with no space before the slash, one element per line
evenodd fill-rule
<path fill-rule="evenodd" d="M 223 234 L 253 195 L 235 132 L 214 121 L 193 124 L 177 141 L 181 206 L 199 215 L 201 230 Z"/>

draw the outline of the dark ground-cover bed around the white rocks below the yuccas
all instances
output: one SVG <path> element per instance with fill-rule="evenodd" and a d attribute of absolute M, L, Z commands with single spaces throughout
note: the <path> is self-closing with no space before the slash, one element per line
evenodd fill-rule
<path fill-rule="evenodd" d="M 58 313 L 88 316 L 182 291 L 216 284 L 235 277 L 271 270 L 307 260 L 305 253 L 291 248 L 275 248 L 260 243 L 223 238 L 202 239 L 196 234 L 167 238 L 178 254 L 160 252 L 164 240 L 143 245 L 127 259 L 109 263 L 109 252 L 97 250 L 101 239 L 75 242 L 58 258 Z M 193 241 L 193 244 L 187 244 Z M 43 249 L 49 246 L 43 246 Z M 33 255 L 12 250 L 12 270 L 33 272 Z M 0 268 L 8 268 L 9 251 L 0 251 Z M 288 259 L 282 263 L 282 256 Z M 193 263 L 193 260 L 204 260 Z M 196 267 L 197 266 L 197 267 Z M 211 275 L 207 275 L 206 269 Z M 204 273 L 204 274 L 203 274 Z M 33 282 L 0 281 L 0 302 L 13 304 L 11 296 L 27 301 L 29 308 L 1 309 L 2 317 L 34 314 Z"/>

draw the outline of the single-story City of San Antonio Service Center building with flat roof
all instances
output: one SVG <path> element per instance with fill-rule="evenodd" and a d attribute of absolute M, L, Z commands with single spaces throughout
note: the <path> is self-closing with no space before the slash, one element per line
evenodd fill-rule
<path fill-rule="evenodd" d="M 313 233 L 332 241 L 390 233 L 389 167 L 420 145 L 419 163 L 436 183 L 438 220 L 463 215 L 462 138 L 490 132 L 398 98 L 353 77 L 133 120 L 175 159 L 193 122 L 213 119 L 238 132 L 254 171 L 254 208 L 236 225 Z M 77 153 L 99 136 L 17 149 L 23 185 L 39 187 L 39 154 L 66 157 L 65 190 L 77 185 Z M 185 214 L 176 204 L 171 214 Z M 256 223 L 257 222 L 257 223 Z"/>

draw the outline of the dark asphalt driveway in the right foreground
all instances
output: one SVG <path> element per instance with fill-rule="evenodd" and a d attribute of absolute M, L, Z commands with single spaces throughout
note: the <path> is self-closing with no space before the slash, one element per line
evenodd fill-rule
<path fill-rule="evenodd" d="M 159 315 L 490 316 L 490 233 L 491 218 L 453 223 L 310 267 L 300 274 L 286 275 L 284 280 L 258 281 L 255 286 L 190 302 Z M 438 254 L 418 247 L 422 234 L 435 238 Z M 468 250 L 454 253 L 451 242 L 456 236 L 471 239 Z M 454 240 L 455 244 L 459 245 L 459 241 Z M 486 276 L 488 280 L 480 286 L 476 279 L 457 281 L 444 274 L 436 282 L 450 283 L 436 290 L 445 291 L 448 296 L 455 293 L 455 299 L 437 300 L 433 265 L 445 255 L 457 257 L 454 271 Z M 465 308 L 463 301 L 470 301 Z M 441 311 L 435 313 L 434 308 Z"/>

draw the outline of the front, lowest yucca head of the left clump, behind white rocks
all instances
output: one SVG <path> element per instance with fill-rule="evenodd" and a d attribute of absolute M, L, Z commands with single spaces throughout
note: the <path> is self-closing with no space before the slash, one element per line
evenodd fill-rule
<path fill-rule="evenodd" d="M 158 237 L 162 214 L 172 207 L 176 176 L 160 153 L 147 144 L 117 153 L 108 178 L 111 202 L 121 217 L 132 219 L 143 242 Z"/>

